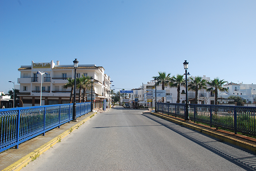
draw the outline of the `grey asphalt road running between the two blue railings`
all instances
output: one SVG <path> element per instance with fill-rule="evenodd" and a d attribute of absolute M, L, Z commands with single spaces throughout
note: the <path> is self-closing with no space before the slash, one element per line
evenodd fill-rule
<path fill-rule="evenodd" d="M 22 171 L 242 171 L 256 156 L 143 110 L 96 114 Z"/>

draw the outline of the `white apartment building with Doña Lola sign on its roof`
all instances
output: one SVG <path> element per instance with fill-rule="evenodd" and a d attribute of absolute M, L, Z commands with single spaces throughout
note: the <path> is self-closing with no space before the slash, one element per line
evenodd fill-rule
<path fill-rule="evenodd" d="M 42 105 L 69 103 L 71 88 L 65 89 L 67 78 L 74 79 L 75 70 L 73 65 L 60 65 L 51 62 L 34 63 L 29 66 L 21 66 L 20 78 L 20 107 L 40 105 L 40 90 L 42 80 Z M 41 75 L 37 72 L 46 72 Z M 94 108 L 102 108 L 103 101 L 110 100 L 110 77 L 104 73 L 102 66 L 78 64 L 77 77 L 91 76 L 94 78 L 93 88 L 95 91 Z M 78 102 L 78 92 L 76 89 L 76 102 Z M 90 101 L 90 100 L 89 100 Z"/>

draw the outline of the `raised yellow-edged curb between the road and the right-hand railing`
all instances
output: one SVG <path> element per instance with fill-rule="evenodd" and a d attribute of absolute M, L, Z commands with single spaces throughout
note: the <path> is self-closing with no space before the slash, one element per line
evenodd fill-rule
<path fill-rule="evenodd" d="M 194 129 L 194 130 L 196 130 L 198 132 L 201 132 L 203 134 L 212 136 L 214 138 L 218 138 L 219 140 L 229 142 L 233 145 L 237 145 L 239 147 L 248 149 L 248 150 L 253 151 L 254 153 L 256 153 L 256 142 L 252 143 L 252 142 L 249 142 L 250 140 L 245 140 L 245 138 L 243 140 L 243 138 L 238 137 L 234 134 L 223 133 L 223 132 L 220 132 L 218 130 L 213 130 L 213 129 L 210 129 L 210 128 L 207 128 L 207 127 L 204 128 L 203 126 L 199 126 L 199 125 L 197 125 L 195 123 L 192 123 L 192 122 L 186 122 L 186 121 L 183 121 L 183 120 L 180 120 L 180 119 L 177 119 L 177 118 L 167 117 L 167 116 L 164 116 L 162 114 L 158 114 L 158 113 L 154 113 L 154 112 L 151 112 L 151 114 L 154 115 L 154 116 L 157 116 L 159 118 L 163 118 L 167 121 L 171 121 L 173 123 L 177 123 L 177 124 L 182 125 L 184 127 Z"/>

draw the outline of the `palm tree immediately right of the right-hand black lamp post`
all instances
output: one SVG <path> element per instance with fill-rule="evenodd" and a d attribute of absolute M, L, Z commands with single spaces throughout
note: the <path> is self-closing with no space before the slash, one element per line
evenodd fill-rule
<path fill-rule="evenodd" d="M 202 77 L 195 77 L 194 79 L 190 77 L 191 81 L 188 84 L 188 90 L 192 90 L 196 92 L 195 95 L 195 104 L 197 104 L 198 91 L 206 89 L 206 79 L 202 79 Z"/>

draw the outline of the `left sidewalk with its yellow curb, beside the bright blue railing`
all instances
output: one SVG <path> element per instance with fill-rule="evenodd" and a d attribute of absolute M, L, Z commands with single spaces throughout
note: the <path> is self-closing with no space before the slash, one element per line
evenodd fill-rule
<path fill-rule="evenodd" d="M 99 113 L 99 112 L 97 112 Z M 35 160 L 47 149 L 51 148 L 57 142 L 60 142 L 62 138 L 70 134 L 71 131 L 75 131 L 76 127 L 84 124 L 90 116 L 93 116 L 96 112 L 89 112 L 84 116 L 78 117 L 77 122 L 65 123 L 45 133 L 45 136 L 37 136 L 19 145 L 18 149 L 9 149 L 0 153 L 0 170 L 20 170 L 31 160 Z M 72 129 L 71 129 L 72 128 Z"/>

